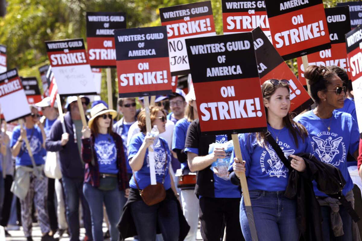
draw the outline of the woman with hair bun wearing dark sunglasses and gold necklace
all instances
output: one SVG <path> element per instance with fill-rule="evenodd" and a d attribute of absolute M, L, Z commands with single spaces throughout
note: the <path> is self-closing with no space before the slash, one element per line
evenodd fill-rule
<path fill-rule="evenodd" d="M 353 206 L 353 182 L 346 156 L 349 152 L 356 160 L 358 158 L 358 126 L 349 113 L 336 111 L 343 107 L 346 87 L 337 74 L 324 66 L 311 65 L 304 76 L 317 107 L 295 117 L 295 120 L 307 128 L 316 158 L 341 170 L 346 181 L 342 193 Z M 319 191 L 316 182 L 313 182 L 313 188 L 321 208 L 324 240 L 352 240 L 352 218 L 346 208 L 337 199 Z M 338 213 L 335 203 L 339 205 Z M 342 221 L 343 228 L 340 222 L 333 221 L 336 219 Z"/>

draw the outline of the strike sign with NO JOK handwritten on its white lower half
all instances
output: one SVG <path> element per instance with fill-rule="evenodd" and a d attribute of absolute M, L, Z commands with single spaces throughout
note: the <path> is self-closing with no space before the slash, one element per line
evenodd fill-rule
<path fill-rule="evenodd" d="M 189 74 L 185 39 L 216 35 L 211 1 L 160 8 L 160 17 L 167 26 L 171 75 Z"/>

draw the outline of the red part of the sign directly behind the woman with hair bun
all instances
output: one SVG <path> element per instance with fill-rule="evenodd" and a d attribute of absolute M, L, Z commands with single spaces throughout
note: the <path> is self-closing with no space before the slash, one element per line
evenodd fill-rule
<path fill-rule="evenodd" d="M 335 43 L 331 45 L 332 48 L 328 50 L 321 50 L 319 52 L 311 53 L 308 55 L 309 65 L 322 65 L 332 66 L 337 65 L 345 69 L 348 78 L 351 79 L 351 72 L 347 59 L 346 43 Z M 306 78 L 304 78 L 304 66 L 302 58 L 297 58 L 299 81 L 303 85 L 307 85 Z"/>

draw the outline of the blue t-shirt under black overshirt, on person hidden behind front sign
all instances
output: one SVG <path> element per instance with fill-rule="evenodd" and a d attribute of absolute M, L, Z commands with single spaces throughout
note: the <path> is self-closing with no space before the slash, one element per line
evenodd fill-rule
<path fill-rule="evenodd" d="M 216 135 L 216 143 L 225 143 L 227 141 L 227 135 Z M 199 154 L 197 148 L 186 147 L 185 152 L 187 151 Z M 240 198 L 241 193 L 239 187 L 232 184 L 230 180 L 224 180 L 214 173 L 214 196 L 215 198 Z"/>

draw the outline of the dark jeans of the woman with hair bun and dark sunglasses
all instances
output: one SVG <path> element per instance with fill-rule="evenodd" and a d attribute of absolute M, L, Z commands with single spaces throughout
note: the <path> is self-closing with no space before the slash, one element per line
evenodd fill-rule
<path fill-rule="evenodd" d="M 349 241 L 352 240 L 352 217 L 348 214 L 346 208 L 340 205 L 339 214 L 343 223 L 344 234 L 339 237 L 334 237 L 333 230 L 331 228 L 331 207 L 320 206 L 322 214 L 322 232 L 324 241 Z"/>

